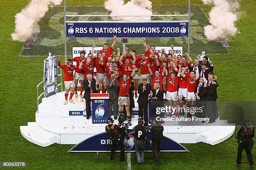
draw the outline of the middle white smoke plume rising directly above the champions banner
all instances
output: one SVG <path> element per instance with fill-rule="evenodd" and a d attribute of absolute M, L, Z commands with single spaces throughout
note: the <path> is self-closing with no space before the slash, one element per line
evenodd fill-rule
<path fill-rule="evenodd" d="M 131 0 L 124 4 L 123 0 L 107 0 L 104 3 L 105 8 L 111 11 L 110 15 L 152 15 L 151 11 L 152 2 L 149 0 Z M 140 21 L 151 20 L 151 17 L 120 17 L 123 20 Z M 121 20 L 120 18 L 114 18 L 113 20 Z M 143 18 L 143 19 L 142 19 Z"/>

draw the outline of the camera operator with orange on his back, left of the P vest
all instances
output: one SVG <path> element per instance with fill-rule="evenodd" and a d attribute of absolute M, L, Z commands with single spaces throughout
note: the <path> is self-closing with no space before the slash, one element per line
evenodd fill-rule
<path fill-rule="evenodd" d="M 120 138 L 120 131 L 125 130 L 125 125 L 119 127 L 118 125 L 113 124 L 113 122 L 114 120 L 111 117 L 108 118 L 108 125 L 105 127 L 105 130 L 108 133 L 110 140 L 112 141 L 110 160 L 114 160 L 115 148 L 118 145 L 120 148 L 120 161 L 123 162 L 125 161 L 124 145 L 123 139 Z"/>

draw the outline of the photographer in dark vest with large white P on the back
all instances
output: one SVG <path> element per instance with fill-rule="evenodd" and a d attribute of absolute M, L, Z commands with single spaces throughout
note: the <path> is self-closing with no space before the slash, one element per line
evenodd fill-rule
<path fill-rule="evenodd" d="M 144 163 L 144 154 L 145 154 L 145 141 L 146 141 L 146 133 L 149 130 L 148 126 L 143 126 L 144 121 L 139 118 L 138 125 L 136 125 L 134 130 L 134 144 L 135 151 L 137 155 L 137 162 L 139 164 Z M 140 153 L 141 152 L 141 153 Z"/>

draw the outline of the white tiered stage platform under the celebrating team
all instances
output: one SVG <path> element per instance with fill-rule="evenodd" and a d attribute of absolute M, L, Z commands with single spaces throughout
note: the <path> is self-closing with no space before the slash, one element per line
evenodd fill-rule
<path fill-rule="evenodd" d="M 63 105 L 64 92 L 43 98 L 36 112 L 36 122 L 28 122 L 28 126 L 20 126 L 21 135 L 28 141 L 40 146 L 49 146 L 53 143 L 77 144 L 98 133 L 105 132 L 106 124 L 92 124 L 92 117 L 89 120 L 82 115 L 69 115 L 69 110 L 83 111 L 85 100 L 73 96 L 74 104 Z M 135 110 L 138 110 L 138 103 L 135 99 Z M 74 112 L 75 114 L 75 112 Z M 218 126 L 214 123 L 189 122 L 191 125 L 184 125 L 184 122 L 172 122 L 172 125 L 164 126 L 164 136 L 171 138 L 178 143 L 204 142 L 211 145 L 218 144 L 235 131 L 234 125 L 227 125 L 227 120 L 217 120 Z M 216 121 L 216 122 L 217 122 Z M 118 124 L 118 120 L 115 120 Z M 133 115 L 132 126 L 138 124 L 138 115 Z M 221 125 L 220 125 L 221 124 Z"/>

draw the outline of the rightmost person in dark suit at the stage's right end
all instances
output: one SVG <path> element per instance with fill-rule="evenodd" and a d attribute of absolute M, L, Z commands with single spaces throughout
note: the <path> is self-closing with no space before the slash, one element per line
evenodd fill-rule
<path fill-rule="evenodd" d="M 207 114 L 208 114 L 208 117 L 210 118 L 210 122 L 208 123 L 213 123 L 215 122 L 215 119 L 218 118 L 218 111 L 215 110 L 217 109 L 216 100 L 218 98 L 217 85 L 214 80 L 215 80 L 215 76 L 210 74 L 208 76 L 207 93 L 206 93 Z"/>

